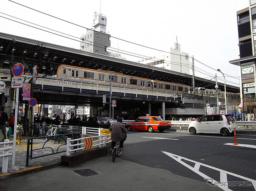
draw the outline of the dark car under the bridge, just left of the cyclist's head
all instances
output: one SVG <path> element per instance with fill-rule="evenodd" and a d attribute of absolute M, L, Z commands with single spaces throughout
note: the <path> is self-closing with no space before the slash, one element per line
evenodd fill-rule
<path fill-rule="evenodd" d="M 78 126 L 108 129 L 108 128 L 110 128 L 111 124 L 110 124 L 110 121 L 108 120 L 108 118 L 106 118 L 106 117 L 91 116 L 88 118 L 87 121 L 80 122 Z"/>

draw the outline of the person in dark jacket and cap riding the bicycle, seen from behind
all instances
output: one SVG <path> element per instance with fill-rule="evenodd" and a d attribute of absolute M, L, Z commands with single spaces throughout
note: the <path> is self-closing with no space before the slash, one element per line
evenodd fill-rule
<path fill-rule="evenodd" d="M 112 124 L 112 126 L 109 128 L 109 130 L 111 131 L 111 149 L 110 149 L 110 153 L 112 152 L 112 150 L 114 149 L 114 146 L 116 145 L 116 142 L 120 142 L 120 150 L 119 151 L 123 151 L 123 145 L 124 145 L 124 141 L 126 140 L 126 133 L 127 133 L 127 129 L 124 127 L 124 124 L 122 124 L 123 119 L 122 118 L 118 118 L 117 122 Z"/>

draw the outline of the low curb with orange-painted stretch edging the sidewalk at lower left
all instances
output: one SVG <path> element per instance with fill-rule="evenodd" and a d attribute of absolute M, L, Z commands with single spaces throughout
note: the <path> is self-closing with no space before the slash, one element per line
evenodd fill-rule
<path fill-rule="evenodd" d="M 28 173 L 34 173 L 37 171 L 43 171 L 46 169 L 50 169 L 53 167 L 58 167 L 58 166 L 62 166 L 63 163 L 62 162 L 57 162 L 57 163 L 50 163 L 50 164 L 46 164 L 44 166 L 34 166 L 34 167 L 28 167 L 28 168 L 24 168 L 24 169 L 20 169 L 20 170 L 16 170 L 14 172 L 6 172 L 6 173 L 1 173 L 0 174 L 0 180 L 3 179 L 9 179 L 9 178 L 13 178 L 13 177 L 18 177 L 18 176 L 22 176 Z"/>

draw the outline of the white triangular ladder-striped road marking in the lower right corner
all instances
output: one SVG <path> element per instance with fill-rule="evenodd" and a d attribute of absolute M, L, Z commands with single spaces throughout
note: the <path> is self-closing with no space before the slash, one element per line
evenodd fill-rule
<path fill-rule="evenodd" d="M 223 184 L 220 184 L 218 181 L 212 179 L 211 177 L 207 176 L 206 174 L 202 173 L 199 171 L 199 168 L 200 168 L 200 165 L 204 166 L 204 167 L 208 167 L 208 168 L 211 168 L 211 169 L 214 169 L 216 171 L 219 171 L 220 172 L 220 182 L 221 183 L 226 183 L 227 182 L 227 174 L 229 175 L 232 175 L 232 176 L 235 176 L 235 177 L 238 177 L 238 178 L 241 178 L 241 179 L 244 179 L 244 180 L 247 180 L 247 181 L 250 181 L 252 183 L 252 185 L 254 186 L 254 189 L 256 189 L 256 181 L 253 180 L 253 179 L 250 179 L 250 178 L 247 178 L 247 177 L 244 177 L 244 176 L 241 176 L 241 175 L 237 175 L 235 173 L 232 173 L 232 172 L 228 172 L 228 171 L 225 171 L 225 170 L 222 170 L 222 169 L 218 169 L 216 167 L 212 167 L 210 165 L 206 165 L 206 164 L 203 164 L 203 163 L 200 163 L 200 162 L 197 162 L 197 161 L 193 161 L 191 159 L 188 159 L 188 158 L 184 158 L 184 157 L 181 157 L 181 156 L 178 156 L 178 155 L 175 155 L 175 154 L 172 154 L 172 153 L 169 153 L 169 152 L 165 152 L 165 151 L 162 151 L 164 154 L 166 154 L 167 156 L 173 158 L 174 160 L 176 160 L 177 162 L 181 163 L 182 165 L 184 165 L 185 167 L 187 167 L 188 169 L 194 171 L 195 173 L 197 173 L 198 175 L 202 176 L 204 179 L 210 179 L 211 180 L 211 183 L 213 183 L 214 185 L 217 185 L 218 187 L 220 187 L 221 189 L 225 190 L 225 191 L 232 191 L 228 188 L 228 185 L 223 185 Z M 188 165 L 187 163 L 185 163 L 184 161 L 182 161 L 181 159 L 183 160 L 187 160 L 187 161 L 190 161 L 190 162 L 193 162 L 195 163 L 194 167 Z"/>

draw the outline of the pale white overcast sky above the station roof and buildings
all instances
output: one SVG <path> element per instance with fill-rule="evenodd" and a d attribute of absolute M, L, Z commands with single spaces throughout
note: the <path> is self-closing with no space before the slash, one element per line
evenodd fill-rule
<path fill-rule="evenodd" d="M 216 73 L 218 81 L 224 83 L 223 75 L 216 71 L 220 69 L 226 83 L 239 86 L 240 67 L 229 61 L 239 59 L 236 12 L 246 7 L 248 0 L 1 0 L 0 32 L 79 49 L 78 38 L 86 33 L 86 28 L 92 28 L 94 12 L 101 12 L 107 17 L 106 29 L 112 36 L 111 48 L 136 53 L 140 57 L 157 57 L 164 55 L 162 51 L 170 52 L 170 48 L 174 48 L 177 36 L 181 51 L 194 56 L 195 76 L 212 79 Z M 24 21 L 32 22 L 72 35 L 69 37 L 75 40 L 3 17 L 42 29 Z M 58 34 L 64 35 L 62 33 Z M 140 57 L 122 56 L 132 61 L 142 60 Z"/>

